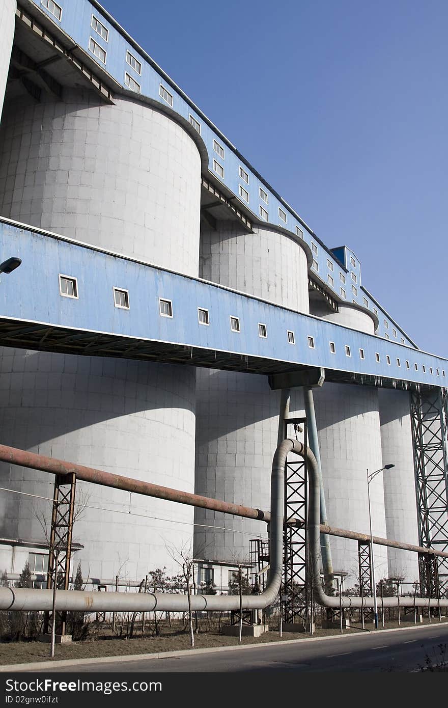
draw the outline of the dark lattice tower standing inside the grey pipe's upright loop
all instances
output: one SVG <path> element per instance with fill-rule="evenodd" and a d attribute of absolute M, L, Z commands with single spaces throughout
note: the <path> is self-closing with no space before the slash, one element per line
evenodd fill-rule
<path fill-rule="evenodd" d="M 294 426 L 297 438 L 299 426 L 303 428 L 306 451 L 306 418 L 289 418 L 285 421 L 285 438 L 291 437 L 287 428 Z M 308 567 L 308 479 L 306 471 L 306 452 L 304 459 L 288 458 L 285 465 L 285 513 L 283 526 L 283 593 L 285 598 L 283 619 L 288 624 L 306 624 L 309 622 Z M 292 518 L 303 524 L 292 525 Z"/>

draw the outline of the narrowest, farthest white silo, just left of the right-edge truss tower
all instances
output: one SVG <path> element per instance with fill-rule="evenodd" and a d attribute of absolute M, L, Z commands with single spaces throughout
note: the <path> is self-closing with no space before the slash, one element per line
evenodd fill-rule
<path fill-rule="evenodd" d="M 418 545 L 417 502 L 413 441 L 410 429 L 409 394 L 406 391 L 379 391 L 381 446 L 383 459 L 395 467 L 384 473 L 384 504 L 388 538 Z M 389 575 L 418 581 L 418 557 L 409 551 L 388 549 Z M 403 586 L 412 592 L 412 586 Z"/>

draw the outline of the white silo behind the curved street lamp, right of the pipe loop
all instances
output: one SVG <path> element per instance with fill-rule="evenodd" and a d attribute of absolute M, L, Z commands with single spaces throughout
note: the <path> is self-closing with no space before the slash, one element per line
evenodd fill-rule
<path fill-rule="evenodd" d="M 311 314 L 323 315 L 316 311 Z M 339 312 L 324 314 L 323 319 L 374 333 L 373 315 L 357 305 L 340 304 Z M 373 387 L 326 382 L 321 389 L 314 389 L 314 404 L 328 524 L 369 533 L 367 469 L 375 472 L 383 467 L 378 391 Z M 381 472 L 370 484 L 370 499 L 373 534 L 384 537 Z M 335 573 L 348 573 L 345 588 L 354 586 L 359 576 L 357 542 L 330 537 L 330 543 Z M 374 547 L 374 559 L 377 581 L 388 577 L 386 550 Z"/>

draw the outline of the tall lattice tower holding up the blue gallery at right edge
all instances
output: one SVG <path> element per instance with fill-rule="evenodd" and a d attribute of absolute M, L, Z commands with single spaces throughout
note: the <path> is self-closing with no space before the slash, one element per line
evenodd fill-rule
<path fill-rule="evenodd" d="M 447 389 L 412 392 L 410 419 L 420 546 L 447 551 Z M 440 598 L 448 598 L 448 559 L 438 556 L 435 564 L 437 573 L 427 571 L 427 564 L 420 562 L 420 593 L 435 591 L 434 578 L 437 575 Z"/>

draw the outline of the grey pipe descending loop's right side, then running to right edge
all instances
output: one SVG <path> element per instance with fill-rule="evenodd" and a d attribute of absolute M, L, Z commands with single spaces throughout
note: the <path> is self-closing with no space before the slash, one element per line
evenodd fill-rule
<path fill-rule="evenodd" d="M 331 607 L 338 610 L 340 607 L 374 607 L 374 598 L 335 598 L 326 595 L 321 583 L 321 571 L 319 567 L 320 557 L 320 485 L 318 475 L 318 464 L 311 450 L 308 454 L 309 471 L 309 510 L 308 510 L 308 532 L 309 532 L 309 553 L 311 556 L 311 578 L 313 582 L 313 596 L 316 603 L 323 607 Z M 369 539 L 369 537 L 368 537 Z M 384 607 L 396 607 L 396 598 L 382 598 Z M 400 605 L 403 607 L 448 607 L 448 600 L 437 598 L 400 598 Z"/>

